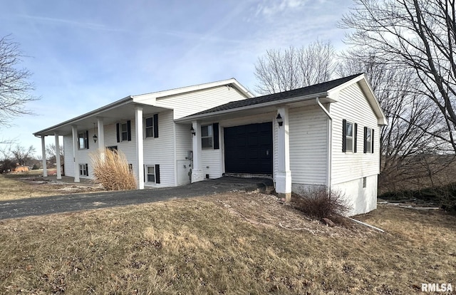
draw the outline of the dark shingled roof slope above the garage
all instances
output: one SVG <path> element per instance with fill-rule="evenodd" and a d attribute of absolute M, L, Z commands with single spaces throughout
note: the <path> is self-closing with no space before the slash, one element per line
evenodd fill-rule
<path fill-rule="evenodd" d="M 327 92 L 328 90 L 331 90 L 332 88 L 335 88 L 339 85 L 342 85 L 343 83 L 346 83 L 346 82 L 350 81 L 351 79 L 356 78 L 360 75 L 362 75 L 362 74 L 358 73 L 356 75 L 352 75 L 352 76 L 348 76 L 348 77 L 344 77 L 344 78 L 338 78 L 336 80 L 327 81 L 327 82 L 315 84 L 312 86 L 307 86 L 304 88 L 298 88 L 298 89 L 294 89 L 294 90 L 288 90 L 288 91 L 284 91 L 284 92 L 258 96 L 256 98 L 247 98 L 244 100 L 232 101 L 231 103 L 225 103 L 224 105 L 219 105 L 215 108 L 209 108 L 209 110 L 203 110 L 202 112 L 188 115 L 187 117 L 191 117 L 194 115 L 202 115 L 202 114 L 207 114 L 207 113 L 214 113 L 214 112 L 218 112 L 220 110 L 232 110 L 234 108 L 243 108 L 243 107 L 246 107 L 249 105 L 258 105 L 260 103 L 269 103 L 269 102 L 277 101 L 277 100 L 285 100 L 287 98 L 295 98 L 295 97 L 299 97 L 299 96 L 323 93 L 323 92 Z"/>

